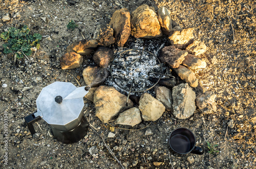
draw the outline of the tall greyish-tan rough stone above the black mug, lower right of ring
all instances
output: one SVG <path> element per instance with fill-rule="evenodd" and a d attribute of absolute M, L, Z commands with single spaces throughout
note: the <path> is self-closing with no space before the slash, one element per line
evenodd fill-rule
<path fill-rule="evenodd" d="M 179 119 L 187 119 L 196 110 L 196 93 L 189 87 L 188 83 L 181 83 L 173 88 L 174 116 Z"/>

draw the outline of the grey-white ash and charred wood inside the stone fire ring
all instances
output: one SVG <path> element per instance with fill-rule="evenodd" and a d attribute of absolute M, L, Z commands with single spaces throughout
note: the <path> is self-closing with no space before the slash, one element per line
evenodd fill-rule
<path fill-rule="evenodd" d="M 158 60 L 150 52 L 154 53 L 158 57 L 161 48 L 163 48 L 165 44 L 168 45 L 168 42 L 164 40 L 165 39 L 159 38 L 151 40 L 135 39 L 125 48 L 114 48 L 113 50 L 116 55 L 112 62 L 112 76 L 118 85 L 112 80 L 111 76 L 106 79 L 105 85 L 113 86 L 125 95 L 129 94 L 131 85 L 133 85 L 132 91 L 136 92 L 131 92 L 131 95 L 139 96 L 141 95 L 139 91 L 146 90 L 145 92 L 155 96 L 154 89 L 148 90 L 154 85 L 154 82 L 151 82 L 148 78 L 159 78 L 159 74 L 151 72 L 161 73 L 161 67 Z M 144 51 L 142 54 L 143 46 Z M 170 75 L 170 69 L 168 69 L 165 64 L 161 64 L 161 66 L 162 73 Z M 162 78 L 166 77 L 162 76 Z M 133 79 L 134 83 L 132 84 Z M 121 89 L 119 86 L 126 91 Z"/>

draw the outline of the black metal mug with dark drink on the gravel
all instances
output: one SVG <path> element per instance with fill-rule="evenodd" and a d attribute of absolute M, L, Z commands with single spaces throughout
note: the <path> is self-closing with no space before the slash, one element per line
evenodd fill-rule
<path fill-rule="evenodd" d="M 196 147 L 196 137 L 193 132 L 184 127 L 177 128 L 170 133 L 168 147 L 170 152 L 180 155 L 187 153 L 204 154 L 204 150 L 201 147 Z"/>

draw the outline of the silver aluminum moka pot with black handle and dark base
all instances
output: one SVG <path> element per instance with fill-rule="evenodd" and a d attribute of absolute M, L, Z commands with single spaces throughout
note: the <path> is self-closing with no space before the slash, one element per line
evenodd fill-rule
<path fill-rule="evenodd" d="M 35 133 L 33 123 L 44 119 L 50 124 L 54 138 L 66 144 L 78 142 L 89 127 L 83 116 L 83 97 L 90 89 L 60 81 L 43 88 L 36 99 L 37 111 L 24 118 L 31 134 Z"/>

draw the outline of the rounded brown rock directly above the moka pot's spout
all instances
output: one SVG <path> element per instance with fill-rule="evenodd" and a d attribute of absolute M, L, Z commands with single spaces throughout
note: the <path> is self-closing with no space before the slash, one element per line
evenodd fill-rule
<path fill-rule="evenodd" d="M 83 80 L 88 86 L 97 87 L 109 76 L 108 70 L 95 65 L 88 66 L 82 72 Z"/>

